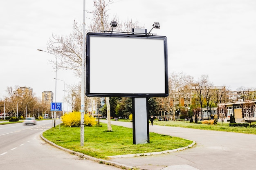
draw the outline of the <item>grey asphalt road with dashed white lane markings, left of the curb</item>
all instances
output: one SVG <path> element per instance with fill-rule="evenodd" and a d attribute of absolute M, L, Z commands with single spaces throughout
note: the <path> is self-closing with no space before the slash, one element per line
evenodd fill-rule
<path fill-rule="evenodd" d="M 51 120 L 0 125 L 0 170 L 120 170 L 46 144 L 40 134 L 51 127 Z"/>

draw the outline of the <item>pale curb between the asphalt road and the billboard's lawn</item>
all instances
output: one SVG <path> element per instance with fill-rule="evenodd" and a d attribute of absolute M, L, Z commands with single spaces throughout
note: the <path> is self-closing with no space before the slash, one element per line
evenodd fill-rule
<path fill-rule="evenodd" d="M 74 150 L 69 150 L 69 149 L 63 148 L 63 147 L 58 146 L 58 145 L 54 144 L 53 142 L 47 140 L 45 137 L 43 137 L 43 133 L 40 134 L 40 137 L 47 144 L 50 144 L 50 145 L 52 145 L 52 146 L 54 146 L 54 147 L 56 147 L 58 149 L 61 149 L 61 150 L 65 151 L 65 152 L 68 152 L 70 154 L 74 154 L 76 156 L 79 156 L 79 157 L 81 157 L 83 159 L 88 159 L 88 160 L 95 161 L 95 162 L 98 162 L 98 163 L 104 163 L 106 165 L 115 166 L 117 168 L 122 168 L 122 169 L 126 169 L 126 170 L 130 170 L 130 169 L 135 168 L 133 166 L 124 165 L 122 163 L 117 163 L 117 162 L 113 162 L 113 161 L 108 161 L 108 160 L 104 160 L 104 159 L 98 159 L 98 158 L 90 157 L 90 156 L 82 154 L 80 152 L 75 152 Z"/>

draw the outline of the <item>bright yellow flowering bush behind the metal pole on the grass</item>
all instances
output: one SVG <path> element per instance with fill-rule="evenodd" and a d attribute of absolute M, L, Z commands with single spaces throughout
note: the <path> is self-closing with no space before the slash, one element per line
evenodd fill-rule
<path fill-rule="evenodd" d="M 62 121 L 65 126 L 80 127 L 81 113 L 80 112 L 66 113 L 65 115 L 62 116 Z M 96 125 L 95 118 L 92 116 L 89 116 L 88 114 L 85 114 L 84 124 L 85 126 L 95 126 Z"/>

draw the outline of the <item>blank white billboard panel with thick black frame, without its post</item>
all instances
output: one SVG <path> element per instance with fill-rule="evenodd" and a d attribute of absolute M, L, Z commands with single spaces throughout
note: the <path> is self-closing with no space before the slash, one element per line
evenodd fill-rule
<path fill-rule="evenodd" d="M 87 33 L 85 94 L 96 97 L 168 96 L 167 38 Z"/>

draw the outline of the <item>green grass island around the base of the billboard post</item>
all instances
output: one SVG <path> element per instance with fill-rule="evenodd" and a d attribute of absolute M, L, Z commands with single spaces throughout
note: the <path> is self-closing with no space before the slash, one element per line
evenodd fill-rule
<path fill-rule="evenodd" d="M 70 128 L 61 125 L 49 129 L 43 136 L 64 148 L 81 152 L 96 158 L 107 159 L 107 156 L 159 152 L 189 146 L 193 141 L 168 135 L 150 132 L 150 143 L 133 144 L 132 129 L 122 126 L 112 126 L 112 132 L 106 131 L 107 124 L 102 127 L 85 126 L 84 146 L 80 146 L 80 128 Z"/>

